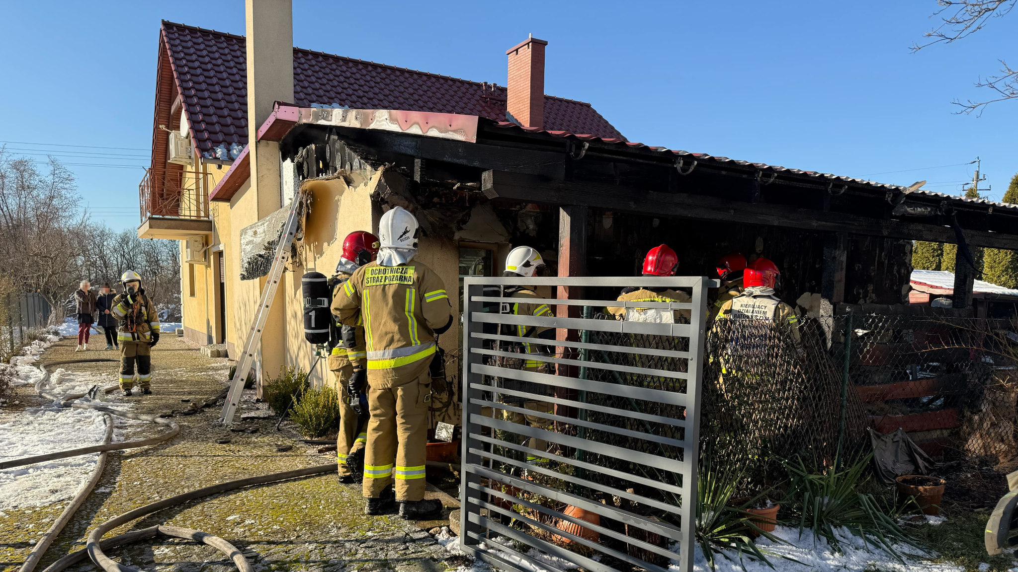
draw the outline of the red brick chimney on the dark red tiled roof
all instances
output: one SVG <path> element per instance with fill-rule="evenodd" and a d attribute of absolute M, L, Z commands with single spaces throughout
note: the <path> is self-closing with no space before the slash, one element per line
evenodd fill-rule
<path fill-rule="evenodd" d="M 545 123 L 547 45 L 548 42 L 531 36 L 506 51 L 509 56 L 506 118 L 524 127 L 543 127 Z"/>

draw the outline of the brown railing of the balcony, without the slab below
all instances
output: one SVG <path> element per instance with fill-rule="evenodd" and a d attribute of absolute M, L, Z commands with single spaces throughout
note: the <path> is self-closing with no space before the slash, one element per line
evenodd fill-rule
<path fill-rule="evenodd" d="M 159 178 L 163 184 L 156 184 Z M 212 176 L 196 171 L 146 170 L 137 185 L 142 222 L 151 217 L 208 219 Z"/>

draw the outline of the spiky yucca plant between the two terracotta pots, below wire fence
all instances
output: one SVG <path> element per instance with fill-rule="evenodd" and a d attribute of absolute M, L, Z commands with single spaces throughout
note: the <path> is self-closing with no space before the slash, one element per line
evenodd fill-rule
<path fill-rule="evenodd" d="M 798 521 L 800 534 L 806 528 L 811 529 L 814 538 L 826 538 L 837 554 L 844 551 L 835 530 L 845 527 L 858 534 L 866 546 L 873 544 L 904 562 L 894 544 L 915 547 L 914 540 L 895 522 L 897 514 L 893 508 L 882 506 L 871 494 L 859 492 L 869 478 L 865 473 L 871 456 L 860 456 L 840 469 L 836 462 L 814 470 L 801 458 L 782 459 L 790 483 L 781 503 L 789 509 L 791 521 Z"/>

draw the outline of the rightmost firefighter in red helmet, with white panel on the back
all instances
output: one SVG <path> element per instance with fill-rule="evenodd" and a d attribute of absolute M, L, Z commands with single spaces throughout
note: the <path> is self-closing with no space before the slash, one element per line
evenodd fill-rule
<path fill-rule="evenodd" d="M 802 357 L 802 338 L 799 335 L 799 317 L 792 306 L 781 301 L 774 289 L 781 272 L 768 259 L 756 259 L 743 273 L 745 290 L 742 294 L 723 303 L 718 319 L 761 320 L 773 322 L 779 332 L 787 333 L 795 344 L 796 353 Z"/>

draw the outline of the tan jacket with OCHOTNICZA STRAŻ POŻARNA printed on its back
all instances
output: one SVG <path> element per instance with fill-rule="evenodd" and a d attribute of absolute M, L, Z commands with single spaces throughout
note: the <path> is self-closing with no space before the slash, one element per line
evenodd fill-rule
<path fill-rule="evenodd" d="M 367 383 L 375 389 L 399 387 L 426 374 L 435 331 L 452 323 L 442 279 L 412 261 L 360 267 L 333 299 L 332 312 L 345 326 L 363 326 Z"/>

